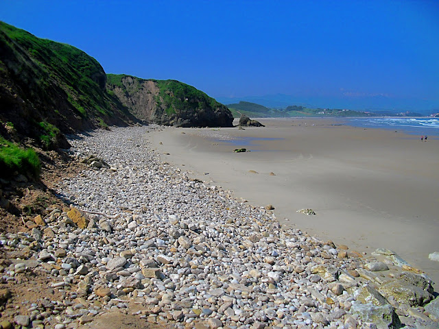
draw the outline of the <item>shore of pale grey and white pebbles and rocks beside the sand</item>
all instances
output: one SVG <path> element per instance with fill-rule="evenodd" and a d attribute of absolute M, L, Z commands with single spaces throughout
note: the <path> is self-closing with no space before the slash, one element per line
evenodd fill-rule
<path fill-rule="evenodd" d="M 438 328 L 425 273 L 390 250 L 364 255 L 283 229 L 270 207 L 163 162 L 148 147 L 157 129 L 69 141 L 86 166 L 58 185 L 70 208 L 0 236 L 14 258 L 2 282 L 44 273 L 54 299 L 29 302 L 1 328 L 93 328 L 115 310 L 171 328 Z"/>

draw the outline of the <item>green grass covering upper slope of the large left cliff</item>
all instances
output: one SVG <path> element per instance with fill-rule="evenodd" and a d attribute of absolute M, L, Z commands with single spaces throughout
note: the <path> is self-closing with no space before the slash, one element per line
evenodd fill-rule
<path fill-rule="evenodd" d="M 19 59 L 13 64 L 9 61 L 8 71 L 24 82 L 26 98 L 38 97 L 38 103 L 54 103 L 54 98 L 65 97 L 82 118 L 113 114 L 114 103 L 105 91 L 104 69 L 84 51 L 37 38 L 3 22 L 0 47 L 8 47 L 8 56 Z"/>

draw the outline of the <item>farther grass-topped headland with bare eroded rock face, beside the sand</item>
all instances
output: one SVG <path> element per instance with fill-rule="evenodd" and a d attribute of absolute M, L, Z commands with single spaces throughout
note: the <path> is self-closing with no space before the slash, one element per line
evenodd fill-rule
<path fill-rule="evenodd" d="M 107 89 L 137 118 L 178 127 L 231 127 L 233 116 L 202 91 L 176 80 L 107 75 Z"/>

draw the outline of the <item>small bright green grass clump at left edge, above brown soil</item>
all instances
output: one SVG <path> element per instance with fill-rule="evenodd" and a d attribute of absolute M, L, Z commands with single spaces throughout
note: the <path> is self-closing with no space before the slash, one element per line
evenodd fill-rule
<path fill-rule="evenodd" d="M 38 177 L 41 162 L 33 149 L 23 149 L 0 137 L 0 177 L 10 178 L 15 172 Z"/>

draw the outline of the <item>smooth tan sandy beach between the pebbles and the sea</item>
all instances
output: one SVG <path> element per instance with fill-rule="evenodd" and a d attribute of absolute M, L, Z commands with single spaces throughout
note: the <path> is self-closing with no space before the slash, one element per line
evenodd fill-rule
<path fill-rule="evenodd" d="M 370 254 L 392 249 L 439 282 L 439 141 L 327 119 L 260 119 L 266 127 L 152 132 L 163 160 L 272 204 L 283 226 Z M 250 152 L 233 153 L 245 147 Z M 296 212 L 312 208 L 316 216 Z"/>

